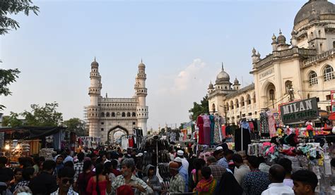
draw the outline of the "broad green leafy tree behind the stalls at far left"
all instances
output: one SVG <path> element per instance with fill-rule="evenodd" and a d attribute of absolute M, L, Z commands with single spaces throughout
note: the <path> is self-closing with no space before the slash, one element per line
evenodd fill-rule
<path fill-rule="evenodd" d="M 25 125 L 29 126 L 58 126 L 63 121 L 63 114 L 57 112 L 58 103 L 45 103 L 45 106 L 38 104 L 30 105 L 31 112 L 20 113 L 25 118 Z"/>

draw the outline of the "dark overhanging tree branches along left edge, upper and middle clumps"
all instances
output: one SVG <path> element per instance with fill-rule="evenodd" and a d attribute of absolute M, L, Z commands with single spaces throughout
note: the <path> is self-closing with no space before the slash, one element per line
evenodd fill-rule
<path fill-rule="evenodd" d="M 31 0 L 2 0 L 0 1 L 0 35 L 8 33 L 8 30 L 17 30 L 20 25 L 18 21 L 9 18 L 8 15 L 16 15 L 23 12 L 25 15 L 29 15 L 30 11 L 33 11 L 37 15 L 39 7 L 33 6 L 33 1 Z M 0 61 L 2 63 L 2 61 Z M 20 71 L 16 69 L 1 69 L 0 68 L 0 96 L 11 95 L 9 91 L 8 84 L 16 82 L 18 74 Z M 4 105 L 0 104 L 0 111 L 6 108 Z"/>

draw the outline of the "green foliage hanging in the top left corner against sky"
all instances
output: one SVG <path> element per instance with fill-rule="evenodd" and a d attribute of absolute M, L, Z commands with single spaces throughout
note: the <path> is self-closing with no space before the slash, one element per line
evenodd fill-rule
<path fill-rule="evenodd" d="M 0 34 L 8 33 L 8 30 L 17 30 L 20 25 L 18 21 L 9 18 L 8 15 L 17 15 L 23 12 L 25 15 L 33 11 L 35 15 L 39 11 L 39 7 L 33 6 L 31 0 L 2 0 L 0 1 Z"/>

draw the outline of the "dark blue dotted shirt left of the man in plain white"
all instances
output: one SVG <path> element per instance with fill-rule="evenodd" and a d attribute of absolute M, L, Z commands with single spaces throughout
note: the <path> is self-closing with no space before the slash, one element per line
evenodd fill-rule
<path fill-rule="evenodd" d="M 260 170 L 252 170 L 245 175 L 242 182 L 242 188 L 247 195 L 259 195 L 262 191 L 268 188 L 270 183 L 269 174 L 261 172 Z"/>

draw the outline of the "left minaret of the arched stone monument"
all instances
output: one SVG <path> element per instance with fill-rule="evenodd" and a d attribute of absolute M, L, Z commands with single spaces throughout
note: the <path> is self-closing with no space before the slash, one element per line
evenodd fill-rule
<path fill-rule="evenodd" d="M 88 87 L 88 95 L 90 96 L 90 106 L 88 106 L 88 134 L 90 137 L 100 137 L 99 132 L 99 106 L 98 99 L 100 97 L 102 84 L 99 74 L 99 63 L 94 61 L 90 64 L 90 87 Z"/>

